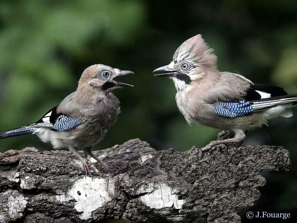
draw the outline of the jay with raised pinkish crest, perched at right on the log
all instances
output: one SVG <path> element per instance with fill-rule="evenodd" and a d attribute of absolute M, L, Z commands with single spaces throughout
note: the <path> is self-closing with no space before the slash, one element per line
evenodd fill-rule
<path fill-rule="evenodd" d="M 173 61 L 155 76 L 170 77 L 177 89 L 176 103 L 189 124 L 227 130 L 232 138 L 212 141 L 203 150 L 245 138 L 245 130 L 267 124 L 277 116 L 292 117 L 297 94 L 281 87 L 256 84 L 235 73 L 220 72 L 217 56 L 201 35 L 186 40 Z"/>

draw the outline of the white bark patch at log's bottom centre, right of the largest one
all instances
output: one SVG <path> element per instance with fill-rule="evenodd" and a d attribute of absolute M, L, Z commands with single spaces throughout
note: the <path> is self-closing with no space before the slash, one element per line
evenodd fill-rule
<path fill-rule="evenodd" d="M 139 192 L 149 194 L 145 194 L 139 199 L 151 208 L 169 208 L 174 205 L 176 209 L 181 209 L 184 200 L 177 199 L 177 191 L 177 189 L 168 186 L 166 183 L 158 183 L 155 186 L 141 186 Z"/>

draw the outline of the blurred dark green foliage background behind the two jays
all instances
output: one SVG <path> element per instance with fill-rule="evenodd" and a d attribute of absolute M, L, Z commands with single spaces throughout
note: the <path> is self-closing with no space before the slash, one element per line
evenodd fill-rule
<path fill-rule="evenodd" d="M 0 132 L 37 121 L 73 92 L 83 70 L 97 63 L 135 75 L 114 91 L 122 113 L 95 149 L 132 138 L 156 149 L 188 150 L 216 138 L 215 129 L 190 127 L 178 112 L 175 88 L 152 70 L 201 33 L 221 71 L 297 93 L 297 2 L 292 1 L 9 1 L 0 6 Z M 289 148 L 293 169 L 265 173 L 268 183 L 254 211 L 297 210 L 297 109 L 250 131 L 245 144 Z M 0 152 L 34 146 L 36 136 L 0 141 Z M 295 212 L 296 213 L 296 212 Z"/>

